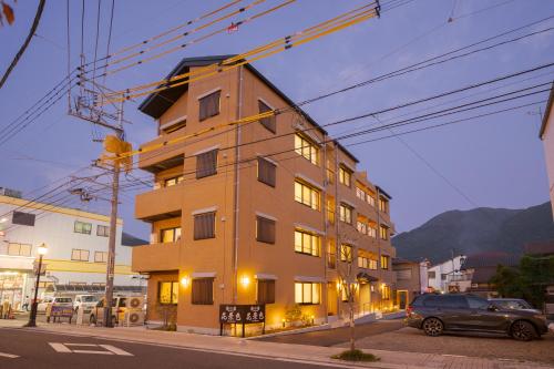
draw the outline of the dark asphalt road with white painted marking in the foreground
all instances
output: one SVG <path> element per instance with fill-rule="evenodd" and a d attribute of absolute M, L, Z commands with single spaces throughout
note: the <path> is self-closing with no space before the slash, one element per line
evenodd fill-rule
<path fill-rule="evenodd" d="M 22 368 L 315 369 L 336 367 L 123 342 L 93 337 L 76 337 L 30 329 L 0 328 L 0 369 Z"/>

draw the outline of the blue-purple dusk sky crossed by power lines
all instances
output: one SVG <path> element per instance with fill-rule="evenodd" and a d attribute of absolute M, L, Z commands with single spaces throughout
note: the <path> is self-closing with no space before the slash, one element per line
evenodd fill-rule
<path fill-rule="evenodd" d="M 19 1 L 13 4 L 16 24 L 0 29 L 2 71 L 27 35 L 37 3 Z M 70 3 L 70 50 L 74 68 L 81 48 L 81 1 Z M 99 55 L 105 54 L 110 3 L 102 1 Z M 223 3 L 116 0 L 112 50 L 140 42 Z M 277 0 L 268 0 L 253 12 L 277 3 Z M 106 84 L 124 89 L 155 81 L 166 75 L 182 58 L 244 52 L 363 3 L 355 0 L 298 0 L 242 27 L 238 32 L 217 35 L 188 50 L 109 76 Z M 94 50 L 96 9 L 98 1 L 86 1 L 84 53 L 88 60 L 92 60 Z M 452 10 L 454 21 L 447 22 Z M 65 76 L 65 1 L 47 3 L 38 37 L 0 90 L 0 127 L 24 112 Z M 553 1 L 414 0 L 384 13 L 381 19 L 371 19 L 254 65 L 294 101 L 301 101 L 552 14 Z M 553 25 L 554 20 L 551 19 L 532 30 Z M 552 62 L 553 35 L 554 32 L 542 33 L 470 58 L 371 84 L 309 104 L 305 110 L 325 124 Z M 536 82 L 552 81 L 553 75 L 547 74 Z M 541 98 L 546 99 L 546 95 L 544 93 Z M 530 101 L 537 100 L 536 96 L 533 99 Z M 136 106 L 133 103 L 125 106 L 125 117 L 133 122 L 126 126 L 127 136 L 135 145 L 155 135 L 154 122 L 137 112 Z M 0 186 L 29 193 L 98 157 L 102 147 L 92 142 L 91 125 L 68 116 L 66 110 L 63 99 L 22 133 L 0 145 Z M 399 232 L 409 230 L 438 213 L 454 208 L 527 207 L 547 201 L 548 195 L 536 112 L 536 106 L 522 109 L 402 136 L 417 154 L 394 137 L 357 145 L 351 151 L 360 158 L 360 168 L 368 171 L 370 180 L 392 195 L 392 217 Z M 404 112 L 380 119 L 392 119 L 400 113 Z M 339 134 L 376 123 L 373 119 L 366 119 L 329 129 L 329 132 Z M 121 216 L 127 232 L 146 237 L 147 225 L 133 219 L 133 196 L 134 193 L 129 192 L 122 197 Z M 75 198 L 68 205 L 107 214 L 107 204 L 102 201 L 83 205 Z"/>

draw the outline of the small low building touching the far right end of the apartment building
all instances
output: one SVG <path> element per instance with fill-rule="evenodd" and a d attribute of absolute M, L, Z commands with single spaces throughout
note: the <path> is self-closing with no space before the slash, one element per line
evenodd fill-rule
<path fill-rule="evenodd" d="M 397 274 L 397 305 L 400 309 L 406 309 L 416 296 L 427 291 L 428 265 L 427 260 L 392 260 L 392 270 Z"/>

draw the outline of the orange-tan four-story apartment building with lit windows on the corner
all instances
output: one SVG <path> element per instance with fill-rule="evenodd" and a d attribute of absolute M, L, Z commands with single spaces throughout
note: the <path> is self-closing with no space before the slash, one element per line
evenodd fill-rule
<path fill-rule="evenodd" d="M 225 58 L 184 59 L 171 75 Z M 390 196 L 293 106 L 250 64 L 141 104 L 158 132 L 142 147 L 167 143 L 143 150 L 138 163 L 155 181 L 136 197 L 135 216 L 152 234 L 132 264 L 150 275 L 150 320 L 172 306 L 178 329 L 219 334 L 219 305 L 265 304 L 267 326 L 285 324 L 297 305 L 328 321 L 347 308 L 339 283 L 347 265 L 358 280 L 357 314 L 393 305 Z M 286 112 L 172 143 L 274 109 Z"/>

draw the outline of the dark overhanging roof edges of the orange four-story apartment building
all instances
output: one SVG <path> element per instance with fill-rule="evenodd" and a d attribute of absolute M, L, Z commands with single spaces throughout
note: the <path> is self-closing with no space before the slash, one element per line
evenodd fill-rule
<path fill-rule="evenodd" d="M 188 72 L 191 66 L 205 66 L 219 63 L 226 59 L 236 57 L 236 54 L 228 55 L 209 55 L 209 57 L 195 57 L 195 58 L 185 58 L 183 59 L 166 76 L 166 80 L 178 74 L 183 74 Z M 250 63 L 245 64 L 245 66 L 258 79 L 261 80 L 269 89 L 271 89 L 279 98 L 285 100 L 285 102 L 291 106 L 295 106 L 295 110 L 301 114 L 308 122 L 310 122 L 315 127 L 317 127 L 322 134 L 329 135 L 326 130 L 324 130 L 316 121 L 308 115 L 304 110 L 299 106 L 296 106 L 296 103 L 290 100 L 283 91 L 280 91 L 275 84 L 273 84 L 268 79 L 264 76 L 257 69 L 255 69 Z M 162 83 L 160 86 L 163 86 Z M 158 88 L 160 88 L 158 86 Z M 162 116 L 177 100 L 188 90 L 188 83 L 183 85 L 163 90 L 160 92 L 155 92 L 150 94 L 138 106 L 138 110 L 144 114 L 152 116 L 153 119 L 158 119 Z M 342 150 L 351 160 L 356 163 L 359 163 L 358 158 L 350 153 L 345 146 L 342 146 L 339 142 L 336 142 L 337 145 Z"/>

